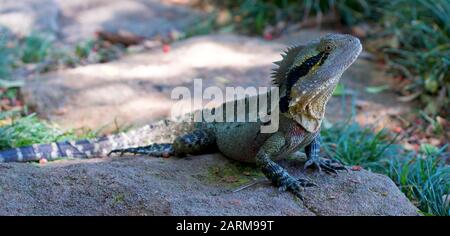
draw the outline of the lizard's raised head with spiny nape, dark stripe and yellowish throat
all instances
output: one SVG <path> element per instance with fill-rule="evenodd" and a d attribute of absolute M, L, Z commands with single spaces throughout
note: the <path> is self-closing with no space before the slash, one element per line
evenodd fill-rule
<path fill-rule="evenodd" d="M 283 59 L 275 62 L 278 68 L 273 73 L 280 89 L 280 112 L 316 132 L 339 78 L 361 50 L 358 38 L 344 34 L 328 34 L 288 48 Z"/>

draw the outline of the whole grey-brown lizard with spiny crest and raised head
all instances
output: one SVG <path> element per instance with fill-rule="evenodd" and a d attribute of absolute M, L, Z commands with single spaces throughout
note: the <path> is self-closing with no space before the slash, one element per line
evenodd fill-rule
<path fill-rule="evenodd" d="M 295 178 L 276 161 L 304 150 L 304 168 L 328 173 L 345 170 L 340 162 L 320 157 L 320 127 L 326 105 L 343 72 L 356 60 L 362 45 L 346 34 L 327 34 L 307 44 L 289 47 L 272 74 L 279 89 L 276 106 L 279 127 L 260 132 L 263 122 L 173 122 L 162 120 L 142 128 L 90 140 L 56 142 L 0 151 L 0 162 L 37 161 L 41 158 L 101 157 L 114 153 L 153 157 L 183 157 L 220 152 L 241 162 L 255 163 L 273 185 L 302 199 L 308 179 Z M 231 101 L 237 103 L 238 101 Z M 248 98 L 245 98 L 248 103 Z M 230 102 L 219 107 L 226 110 Z M 210 112 L 216 108 L 210 109 Z M 274 110 L 275 109 L 275 110 Z"/>

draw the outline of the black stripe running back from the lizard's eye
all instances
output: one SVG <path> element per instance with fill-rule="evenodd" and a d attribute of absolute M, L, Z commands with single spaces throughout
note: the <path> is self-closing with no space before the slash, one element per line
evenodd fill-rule
<path fill-rule="evenodd" d="M 308 58 L 305 62 L 303 62 L 300 66 L 296 66 L 290 69 L 286 74 L 286 95 L 280 98 L 279 106 L 281 112 L 287 112 L 289 107 L 289 102 L 291 101 L 291 88 L 294 86 L 297 81 L 307 75 L 309 71 L 320 62 L 319 65 L 322 65 L 326 58 L 328 57 L 328 53 L 320 52 L 319 54 Z"/>

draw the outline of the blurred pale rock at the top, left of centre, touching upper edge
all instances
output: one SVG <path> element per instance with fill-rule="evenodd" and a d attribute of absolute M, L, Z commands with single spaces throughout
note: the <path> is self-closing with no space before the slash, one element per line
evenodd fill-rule
<path fill-rule="evenodd" d="M 160 0 L 57 0 L 61 8 L 62 36 L 66 42 L 92 38 L 96 31 L 126 31 L 135 35 L 166 36 L 185 30 L 202 14 Z"/>

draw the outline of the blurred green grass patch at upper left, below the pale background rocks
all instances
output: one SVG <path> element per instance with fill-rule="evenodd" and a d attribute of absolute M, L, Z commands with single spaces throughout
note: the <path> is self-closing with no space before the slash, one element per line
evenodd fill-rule
<path fill-rule="evenodd" d="M 111 45 L 99 39 L 80 41 L 73 47 L 66 47 L 44 33 L 32 33 L 24 38 L 0 35 L 0 79 L 12 79 L 14 70 L 25 64 L 40 64 L 36 72 L 47 72 L 61 67 L 108 62 L 117 59 L 124 51 L 121 45 Z"/>

